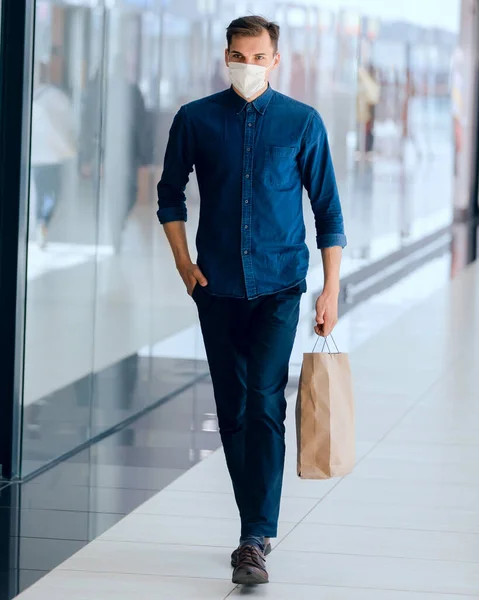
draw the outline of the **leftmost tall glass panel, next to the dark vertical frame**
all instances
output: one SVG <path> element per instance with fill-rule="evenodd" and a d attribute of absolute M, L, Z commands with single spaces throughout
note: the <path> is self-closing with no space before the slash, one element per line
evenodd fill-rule
<path fill-rule="evenodd" d="M 85 4 L 36 3 L 24 475 L 91 434 L 101 113 L 83 99 L 103 17 Z"/>

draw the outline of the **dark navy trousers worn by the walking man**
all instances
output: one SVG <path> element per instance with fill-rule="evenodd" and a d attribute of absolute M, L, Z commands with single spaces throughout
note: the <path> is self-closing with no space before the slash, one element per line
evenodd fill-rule
<path fill-rule="evenodd" d="M 193 290 L 241 537 L 276 537 L 284 471 L 285 388 L 303 281 L 254 300 Z"/>

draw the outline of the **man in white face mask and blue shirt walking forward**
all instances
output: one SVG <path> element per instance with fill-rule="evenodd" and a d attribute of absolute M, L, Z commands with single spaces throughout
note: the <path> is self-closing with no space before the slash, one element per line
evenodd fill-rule
<path fill-rule="evenodd" d="M 197 304 L 226 461 L 241 517 L 233 582 L 266 583 L 284 466 L 285 387 L 306 290 L 303 185 L 325 284 L 316 333 L 336 321 L 346 245 L 326 131 L 318 113 L 271 89 L 279 27 L 261 17 L 227 29 L 232 88 L 183 106 L 158 184 L 158 218 Z M 190 258 L 185 187 L 196 168 L 198 260 Z"/>

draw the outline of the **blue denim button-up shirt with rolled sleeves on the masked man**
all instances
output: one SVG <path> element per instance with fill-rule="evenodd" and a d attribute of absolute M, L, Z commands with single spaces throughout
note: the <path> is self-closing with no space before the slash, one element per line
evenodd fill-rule
<path fill-rule="evenodd" d="M 271 87 L 251 103 L 230 88 L 183 106 L 158 184 L 160 223 L 186 221 L 193 168 L 197 263 L 210 293 L 253 299 L 305 279 L 303 187 L 318 248 L 346 245 L 327 134 L 313 108 Z"/>

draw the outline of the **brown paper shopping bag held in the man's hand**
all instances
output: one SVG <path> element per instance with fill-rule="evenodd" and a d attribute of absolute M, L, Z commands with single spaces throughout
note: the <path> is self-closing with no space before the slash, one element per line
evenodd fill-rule
<path fill-rule="evenodd" d="M 347 354 L 314 350 L 304 354 L 296 432 L 299 477 L 329 479 L 353 470 L 354 400 Z"/>

